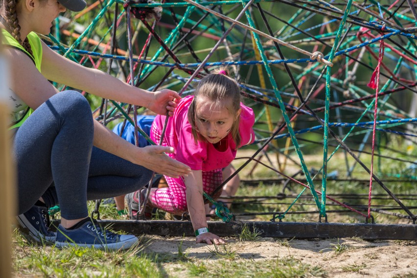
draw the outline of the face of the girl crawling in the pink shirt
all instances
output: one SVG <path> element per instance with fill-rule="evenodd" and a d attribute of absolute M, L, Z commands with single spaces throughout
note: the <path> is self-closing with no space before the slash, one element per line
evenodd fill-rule
<path fill-rule="evenodd" d="M 212 144 L 218 143 L 229 134 L 233 122 L 240 115 L 241 111 L 239 109 L 236 115 L 232 115 L 225 106 L 215 106 L 204 98 L 196 104 L 197 130 Z"/>

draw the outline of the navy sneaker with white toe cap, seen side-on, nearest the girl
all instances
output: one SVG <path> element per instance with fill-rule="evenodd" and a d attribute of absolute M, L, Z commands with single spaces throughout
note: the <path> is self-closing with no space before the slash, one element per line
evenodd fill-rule
<path fill-rule="evenodd" d="M 81 227 L 67 230 L 58 226 L 55 246 L 94 247 L 95 249 L 125 250 L 137 244 L 139 239 L 131 234 L 116 234 L 105 230 L 98 223 L 85 222 Z"/>

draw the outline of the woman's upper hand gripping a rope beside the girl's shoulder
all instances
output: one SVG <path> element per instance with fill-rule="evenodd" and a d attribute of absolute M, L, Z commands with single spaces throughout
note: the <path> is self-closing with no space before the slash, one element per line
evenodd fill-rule
<path fill-rule="evenodd" d="M 146 106 L 156 114 L 166 115 L 168 112 L 169 116 L 174 115 L 177 103 L 180 102 L 181 96 L 174 91 L 168 89 L 162 89 L 153 93 L 154 99 L 149 102 Z"/>

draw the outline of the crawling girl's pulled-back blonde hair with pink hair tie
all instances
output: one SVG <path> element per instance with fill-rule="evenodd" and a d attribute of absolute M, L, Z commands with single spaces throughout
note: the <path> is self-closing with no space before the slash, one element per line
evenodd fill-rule
<path fill-rule="evenodd" d="M 192 100 L 190 107 L 188 108 L 188 121 L 192 127 L 192 136 L 197 143 L 197 139 L 206 141 L 206 139 L 200 135 L 196 124 L 196 109 L 200 101 L 209 100 L 213 107 L 226 107 L 231 115 L 235 116 L 240 109 L 240 102 L 242 96 L 240 94 L 239 85 L 236 80 L 230 77 L 227 69 L 219 68 L 207 76 L 205 76 L 199 82 L 197 89 L 194 93 L 194 99 Z M 239 121 L 238 116 L 232 125 L 230 134 L 236 147 L 240 145 L 241 137 L 239 134 Z"/>

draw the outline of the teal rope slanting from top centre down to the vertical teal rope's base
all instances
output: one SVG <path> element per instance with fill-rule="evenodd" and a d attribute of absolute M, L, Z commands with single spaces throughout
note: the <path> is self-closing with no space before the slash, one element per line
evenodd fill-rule
<path fill-rule="evenodd" d="M 242 4 L 243 3 L 244 3 L 244 1 L 242 1 Z M 249 25 L 251 27 L 254 27 L 255 24 L 254 24 L 254 22 L 252 20 L 251 14 L 248 11 L 246 11 L 245 13 L 246 13 L 246 18 L 248 19 Z M 265 56 L 265 52 L 264 52 L 263 46 L 262 46 L 262 44 L 259 41 L 259 36 L 255 32 L 253 32 L 253 34 L 254 34 L 256 46 L 259 49 L 259 53 L 261 55 L 262 62 L 264 64 L 265 70 L 266 70 L 266 72 L 268 74 L 268 78 L 269 78 L 269 80 L 271 82 L 271 85 L 272 85 L 272 87 L 274 89 L 274 93 L 275 93 L 275 95 L 277 97 L 278 105 L 279 105 L 279 108 L 281 110 L 282 116 L 284 117 L 285 123 L 287 124 L 287 129 L 288 129 L 288 132 L 290 133 L 291 140 L 292 140 L 292 142 L 293 142 L 293 144 L 295 146 L 296 152 L 297 152 L 297 154 L 298 154 L 298 156 L 300 158 L 301 169 L 302 169 L 302 171 L 303 171 L 303 173 L 304 173 L 304 175 L 305 175 L 305 177 L 307 179 L 308 185 L 310 186 L 311 193 L 313 194 L 313 197 L 314 197 L 314 201 L 316 202 L 317 207 L 320 209 L 321 208 L 321 205 L 320 205 L 319 197 L 317 196 L 317 193 L 316 193 L 315 188 L 314 188 L 313 181 L 312 181 L 312 179 L 310 177 L 310 173 L 308 172 L 307 166 L 305 165 L 304 158 L 303 158 L 303 155 L 301 153 L 301 149 L 300 149 L 300 146 L 298 144 L 297 138 L 295 137 L 294 130 L 293 130 L 292 126 L 291 126 L 290 119 L 288 118 L 288 115 L 287 115 L 287 113 L 285 111 L 284 102 L 282 101 L 282 97 L 281 97 L 281 95 L 278 92 L 277 82 L 275 81 L 275 79 L 273 77 L 272 70 L 271 70 L 271 67 L 268 64 L 268 59 Z"/>

